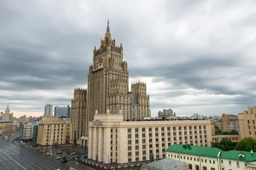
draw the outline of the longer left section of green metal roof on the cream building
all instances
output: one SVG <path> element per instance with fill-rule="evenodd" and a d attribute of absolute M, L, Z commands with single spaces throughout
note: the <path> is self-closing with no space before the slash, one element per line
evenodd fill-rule
<path fill-rule="evenodd" d="M 184 145 L 186 145 L 186 147 Z M 221 151 L 222 150 L 215 147 L 193 146 L 190 144 L 173 144 L 169 146 L 168 149 L 166 150 L 166 152 L 206 156 L 211 158 L 218 158 L 218 153 Z"/>

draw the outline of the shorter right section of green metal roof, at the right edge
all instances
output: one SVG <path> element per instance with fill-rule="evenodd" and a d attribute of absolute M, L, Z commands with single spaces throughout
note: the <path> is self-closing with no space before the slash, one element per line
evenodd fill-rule
<path fill-rule="evenodd" d="M 244 158 L 238 156 L 240 153 L 244 155 Z M 241 151 L 241 150 L 230 150 L 227 152 L 221 152 L 221 159 L 252 162 L 252 161 L 256 161 L 256 153 L 250 153 L 250 152 Z"/>

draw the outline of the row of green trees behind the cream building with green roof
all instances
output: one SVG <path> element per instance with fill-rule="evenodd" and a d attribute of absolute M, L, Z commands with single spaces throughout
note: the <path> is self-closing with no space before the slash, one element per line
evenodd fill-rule
<path fill-rule="evenodd" d="M 250 136 L 241 139 L 241 141 L 238 143 L 234 143 L 228 138 L 222 138 L 220 142 L 215 141 L 211 143 L 212 147 L 219 148 L 223 151 L 242 150 L 250 152 L 253 150 L 253 152 L 256 152 L 256 139 Z"/>

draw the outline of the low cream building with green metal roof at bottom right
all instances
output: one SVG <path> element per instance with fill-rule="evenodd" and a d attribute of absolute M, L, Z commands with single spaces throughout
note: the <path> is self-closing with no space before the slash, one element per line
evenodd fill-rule
<path fill-rule="evenodd" d="M 174 144 L 166 156 L 189 164 L 189 170 L 255 170 L 256 153 L 239 150 L 222 151 L 215 147 Z"/>

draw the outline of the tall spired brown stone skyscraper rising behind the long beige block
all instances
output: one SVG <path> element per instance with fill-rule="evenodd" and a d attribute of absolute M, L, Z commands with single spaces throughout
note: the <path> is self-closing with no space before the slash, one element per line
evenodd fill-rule
<path fill-rule="evenodd" d="M 85 90 L 83 94 L 87 94 L 87 105 L 84 104 L 87 111 L 86 116 L 80 115 L 86 119 L 85 123 L 82 121 L 82 126 L 81 119 L 78 119 L 79 108 L 81 114 L 82 102 L 80 101 L 80 106 L 76 104 L 76 109 L 73 109 L 73 102 L 71 106 L 71 122 L 77 129 L 77 139 L 82 134 L 88 135 L 88 124 L 93 121 L 96 111 L 98 114 L 122 113 L 123 119 L 126 121 L 151 116 L 146 84 L 143 82 L 132 83 L 131 91 L 129 91 L 129 71 L 127 62 L 123 60 L 122 43 L 120 46 L 116 46 L 115 40 L 112 40 L 109 22 L 100 48 L 94 47 L 93 65 L 89 67 L 87 79 L 87 91 Z M 80 124 L 77 121 L 80 121 Z M 78 127 L 81 127 L 83 132 Z"/>

